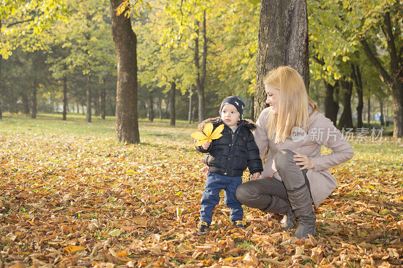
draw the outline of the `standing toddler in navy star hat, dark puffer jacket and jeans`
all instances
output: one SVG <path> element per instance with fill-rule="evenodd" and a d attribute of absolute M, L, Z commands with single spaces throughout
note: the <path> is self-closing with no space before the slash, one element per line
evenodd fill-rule
<path fill-rule="evenodd" d="M 224 202 L 231 209 L 230 220 L 236 227 L 244 229 L 238 221 L 243 219 L 241 203 L 236 199 L 236 188 L 242 183 L 242 173 L 246 168 L 253 178 L 260 177 L 263 171 L 259 149 L 256 146 L 251 130 L 256 126 L 249 119 L 243 119 L 245 104 L 236 96 L 223 100 L 220 117 L 209 118 L 198 125 L 200 130 L 206 123 L 212 123 L 214 129 L 225 124 L 223 135 L 211 143 L 196 147 L 206 153 L 205 162 L 210 167 L 206 187 L 200 203 L 200 231 L 206 232 L 212 222 L 213 210 L 220 201 L 220 190 L 225 190 Z"/>

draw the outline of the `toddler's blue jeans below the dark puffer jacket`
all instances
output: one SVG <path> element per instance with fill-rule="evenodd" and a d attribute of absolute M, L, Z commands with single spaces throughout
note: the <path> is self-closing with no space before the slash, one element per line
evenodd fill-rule
<path fill-rule="evenodd" d="M 242 204 L 236 198 L 236 188 L 242 183 L 242 178 L 229 177 L 215 173 L 209 173 L 207 176 L 206 187 L 203 191 L 203 197 L 200 203 L 200 221 L 211 224 L 213 210 L 220 202 L 220 190 L 225 190 L 224 203 L 231 209 L 230 220 L 242 221 Z"/>

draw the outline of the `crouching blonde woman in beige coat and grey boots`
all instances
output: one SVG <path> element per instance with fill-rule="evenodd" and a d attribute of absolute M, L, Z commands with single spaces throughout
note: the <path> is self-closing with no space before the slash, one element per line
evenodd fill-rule
<path fill-rule="evenodd" d="M 353 158 L 354 152 L 340 130 L 318 112 L 297 71 L 280 66 L 263 80 L 267 94 L 253 136 L 260 157 L 269 148 L 260 178 L 242 183 L 236 190 L 240 203 L 267 213 L 284 215 L 284 229 L 298 227 L 294 236 L 315 236 L 315 212 L 335 189 L 337 180 L 329 168 Z M 321 155 L 321 146 L 332 149 Z M 208 173 L 208 168 L 204 168 Z"/>

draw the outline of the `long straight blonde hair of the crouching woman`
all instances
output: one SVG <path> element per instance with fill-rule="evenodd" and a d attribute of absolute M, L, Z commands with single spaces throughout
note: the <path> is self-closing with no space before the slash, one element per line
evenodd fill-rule
<path fill-rule="evenodd" d="M 309 116 L 319 109 L 316 103 L 309 98 L 301 75 L 289 66 L 280 66 L 268 72 L 263 83 L 280 91 L 278 114 L 268 113 L 268 139 L 276 136 L 276 144 L 284 143 L 291 136 L 294 126 L 307 130 Z M 313 108 L 310 114 L 308 114 L 308 105 Z"/>

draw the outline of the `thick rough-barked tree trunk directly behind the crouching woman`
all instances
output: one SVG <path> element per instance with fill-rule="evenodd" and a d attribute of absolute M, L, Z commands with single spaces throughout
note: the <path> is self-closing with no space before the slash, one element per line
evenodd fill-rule
<path fill-rule="evenodd" d="M 266 107 L 263 78 L 281 65 L 297 70 L 309 88 L 306 0 L 260 0 L 254 120 Z"/>

